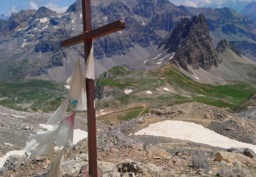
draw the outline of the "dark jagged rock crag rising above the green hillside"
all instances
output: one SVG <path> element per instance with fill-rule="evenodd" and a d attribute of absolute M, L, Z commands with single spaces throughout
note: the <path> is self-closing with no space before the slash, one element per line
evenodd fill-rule
<path fill-rule="evenodd" d="M 167 36 L 160 46 L 167 52 L 175 52 L 173 60 L 188 71 L 188 65 L 193 69 L 199 67 L 208 70 L 218 66 L 218 54 L 205 17 L 200 14 L 190 19 L 184 18 Z"/>

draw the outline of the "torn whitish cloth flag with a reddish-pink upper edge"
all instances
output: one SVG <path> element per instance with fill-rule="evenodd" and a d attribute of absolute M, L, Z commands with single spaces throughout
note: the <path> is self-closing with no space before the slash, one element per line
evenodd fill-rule
<path fill-rule="evenodd" d="M 76 112 L 73 112 L 59 123 L 59 131 L 57 133 L 55 146 L 72 146 L 73 145 L 73 135 L 74 135 L 74 116 Z"/>

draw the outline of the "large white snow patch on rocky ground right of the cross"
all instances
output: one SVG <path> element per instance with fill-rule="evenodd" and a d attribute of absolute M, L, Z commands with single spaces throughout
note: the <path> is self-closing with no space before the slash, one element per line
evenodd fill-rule
<path fill-rule="evenodd" d="M 141 129 L 134 135 L 153 135 L 179 140 L 187 140 L 201 144 L 208 144 L 220 148 L 251 148 L 256 152 L 256 146 L 237 140 L 231 140 L 220 135 L 210 129 L 206 129 L 202 125 L 188 123 L 180 120 L 165 120 L 159 123 L 149 125 L 145 129 Z"/>

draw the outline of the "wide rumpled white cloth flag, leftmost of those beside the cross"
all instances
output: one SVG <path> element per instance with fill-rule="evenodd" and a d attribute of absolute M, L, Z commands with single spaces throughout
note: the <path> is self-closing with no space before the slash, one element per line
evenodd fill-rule
<path fill-rule="evenodd" d="M 27 139 L 25 151 L 31 157 L 52 155 L 58 131 L 59 129 L 56 126 L 55 129 L 51 131 L 38 131 L 36 135 L 31 135 Z"/>

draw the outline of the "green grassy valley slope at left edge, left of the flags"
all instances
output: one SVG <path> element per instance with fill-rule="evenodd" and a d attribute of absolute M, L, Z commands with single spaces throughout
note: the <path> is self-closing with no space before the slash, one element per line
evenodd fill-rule
<path fill-rule="evenodd" d="M 53 111 L 65 96 L 60 84 L 43 80 L 0 83 L 0 104 L 15 110 Z"/>

